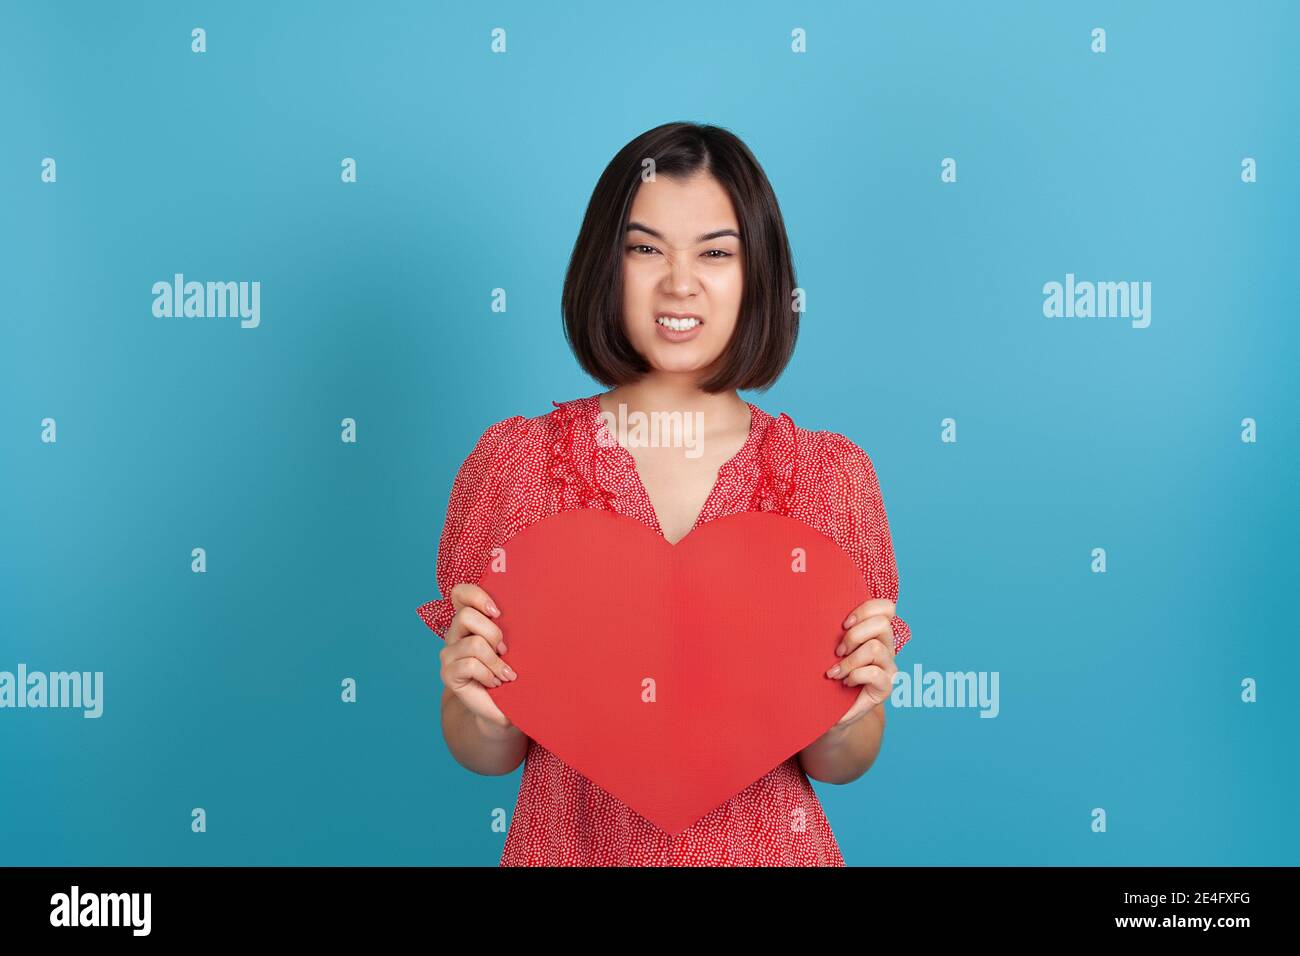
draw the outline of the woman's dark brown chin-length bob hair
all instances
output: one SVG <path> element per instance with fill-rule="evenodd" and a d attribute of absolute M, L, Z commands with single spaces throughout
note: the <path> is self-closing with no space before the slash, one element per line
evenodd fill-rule
<path fill-rule="evenodd" d="M 628 215 L 646 168 L 672 178 L 708 173 L 731 195 L 745 260 L 744 291 L 720 368 L 701 388 L 767 389 L 789 363 L 800 326 L 785 222 L 749 147 L 720 126 L 693 122 L 670 122 L 642 133 L 610 160 L 592 191 L 560 306 L 564 336 L 578 364 L 604 385 L 634 381 L 651 368 L 623 326 Z"/>

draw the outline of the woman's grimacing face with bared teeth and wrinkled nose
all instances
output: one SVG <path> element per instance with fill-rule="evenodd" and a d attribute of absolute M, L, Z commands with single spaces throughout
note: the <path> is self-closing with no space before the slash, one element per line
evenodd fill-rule
<path fill-rule="evenodd" d="M 623 324 L 632 346 L 664 372 L 706 372 L 740 315 L 745 260 L 727 190 L 712 176 L 658 176 L 632 200 L 623 246 Z M 673 321 L 664 313 L 693 316 Z"/>

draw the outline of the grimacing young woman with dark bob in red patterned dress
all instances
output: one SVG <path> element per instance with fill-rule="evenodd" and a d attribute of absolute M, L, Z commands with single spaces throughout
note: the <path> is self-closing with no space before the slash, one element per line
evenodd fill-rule
<path fill-rule="evenodd" d="M 758 161 L 733 134 L 675 122 L 628 143 L 604 169 L 564 282 L 566 336 L 611 390 L 551 402 L 484 432 L 460 467 L 438 553 L 446 597 L 419 609 L 438 633 L 442 728 L 480 774 L 526 761 L 502 865 L 832 865 L 844 858 L 809 777 L 849 783 L 874 762 L 894 654 L 898 575 L 871 460 L 835 432 L 798 428 L 737 395 L 768 388 L 798 332 L 785 225 Z M 620 407 L 623 414 L 620 415 Z M 634 412 L 702 423 L 702 454 L 642 447 Z M 476 581 L 489 551 L 547 515 L 598 507 L 677 542 L 738 511 L 779 511 L 852 555 L 872 598 L 845 609 L 827 679 L 862 691 L 806 747 L 688 830 L 670 836 L 526 737 L 486 688 L 526 680 Z M 575 609 L 575 626 L 581 626 Z"/>

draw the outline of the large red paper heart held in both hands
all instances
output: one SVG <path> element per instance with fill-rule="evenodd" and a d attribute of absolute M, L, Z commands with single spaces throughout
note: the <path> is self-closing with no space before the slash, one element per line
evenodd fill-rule
<path fill-rule="evenodd" d="M 793 518 L 718 518 L 671 545 L 632 518 L 562 511 L 507 541 L 478 583 L 519 674 L 490 691 L 497 705 L 670 834 L 811 744 L 861 692 L 826 671 L 866 583 Z"/>

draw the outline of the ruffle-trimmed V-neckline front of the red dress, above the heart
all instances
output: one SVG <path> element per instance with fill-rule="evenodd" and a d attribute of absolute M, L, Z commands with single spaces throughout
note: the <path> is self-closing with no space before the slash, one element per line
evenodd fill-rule
<path fill-rule="evenodd" d="M 601 397 L 586 395 L 551 402 L 556 424 L 551 441 L 550 473 L 572 488 L 585 507 L 628 511 L 640 503 L 654 515 L 650 496 L 632 453 L 618 444 L 601 418 Z M 780 511 L 789 514 L 798 463 L 800 436 L 794 421 L 781 412 L 768 415 L 751 402 L 749 437 L 718 470 L 714 489 L 696 527 L 710 512 Z M 621 499 L 623 509 L 615 502 Z M 658 524 L 658 516 L 655 516 Z"/>

